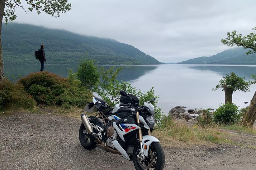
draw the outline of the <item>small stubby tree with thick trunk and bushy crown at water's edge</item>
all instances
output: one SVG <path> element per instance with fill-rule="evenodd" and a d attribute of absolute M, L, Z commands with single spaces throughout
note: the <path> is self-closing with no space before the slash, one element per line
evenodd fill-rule
<path fill-rule="evenodd" d="M 215 89 L 213 88 L 212 90 L 215 91 L 221 88 L 221 90 L 225 92 L 225 104 L 232 104 L 233 92 L 237 90 L 249 92 L 249 87 L 251 84 L 254 84 L 253 81 L 244 81 L 244 79 L 245 77 L 238 77 L 234 72 L 230 73 L 230 76 L 226 74 Z"/>

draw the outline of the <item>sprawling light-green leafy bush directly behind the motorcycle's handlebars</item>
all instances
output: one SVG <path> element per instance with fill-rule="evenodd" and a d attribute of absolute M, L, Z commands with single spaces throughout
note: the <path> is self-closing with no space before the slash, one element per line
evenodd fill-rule
<path fill-rule="evenodd" d="M 155 120 L 160 120 L 163 112 L 161 108 L 157 107 L 157 99 L 159 98 L 159 96 L 155 95 L 154 87 L 151 87 L 147 92 L 142 92 L 135 87 L 131 87 L 131 84 L 129 82 L 124 82 L 123 80 L 119 82 L 118 80 L 116 80 L 116 76 L 122 68 L 118 68 L 116 69 L 116 71 L 113 71 L 113 69 L 114 67 L 105 71 L 103 67 L 101 68 L 102 83 L 100 83 L 101 88 L 98 89 L 97 94 L 101 96 L 112 108 L 119 103 L 121 97 L 120 90 L 124 90 L 137 96 L 140 100 L 140 105 L 143 105 L 145 101 L 150 101 L 152 98 L 156 98 L 156 100 L 151 103 L 155 107 Z"/>

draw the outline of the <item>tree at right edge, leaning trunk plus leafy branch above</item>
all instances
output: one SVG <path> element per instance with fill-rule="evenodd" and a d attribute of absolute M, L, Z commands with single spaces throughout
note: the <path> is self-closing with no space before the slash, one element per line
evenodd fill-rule
<path fill-rule="evenodd" d="M 242 46 L 245 49 L 249 49 L 249 51 L 246 52 L 246 54 L 252 54 L 256 53 L 256 27 L 253 28 L 254 33 L 250 33 L 244 37 L 242 37 L 242 34 L 237 34 L 237 31 L 232 31 L 231 33 L 227 33 L 227 38 L 222 39 L 221 43 L 228 45 L 229 47 L 232 47 L 234 45 L 236 46 Z M 253 75 L 253 78 L 256 82 L 256 77 Z M 255 83 L 254 82 L 254 83 Z M 249 109 L 244 114 L 244 117 L 242 119 L 242 125 L 244 126 L 253 126 L 253 123 L 256 119 L 256 91 L 254 93 L 254 96 L 251 100 L 251 103 L 249 105 Z"/>

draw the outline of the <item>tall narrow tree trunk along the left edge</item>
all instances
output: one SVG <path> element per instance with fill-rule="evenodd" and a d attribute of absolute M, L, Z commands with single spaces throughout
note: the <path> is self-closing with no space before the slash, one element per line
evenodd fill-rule
<path fill-rule="evenodd" d="M 0 82 L 3 81 L 3 58 L 2 58 L 2 21 L 3 21 L 3 11 L 5 6 L 5 0 L 0 0 Z"/>

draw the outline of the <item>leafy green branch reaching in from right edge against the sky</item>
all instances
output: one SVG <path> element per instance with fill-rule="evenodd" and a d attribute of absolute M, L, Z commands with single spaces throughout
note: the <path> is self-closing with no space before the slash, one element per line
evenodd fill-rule
<path fill-rule="evenodd" d="M 227 33 L 227 38 L 222 39 L 221 43 L 232 47 L 234 45 L 249 48 L 250 50 L 246 54 L 256 53 L 256 27 L 253 28 L 254 33 L 250 33 L 244 37 L 242 34 L 237 34 L 237 31 L 232 31 Z"/>

